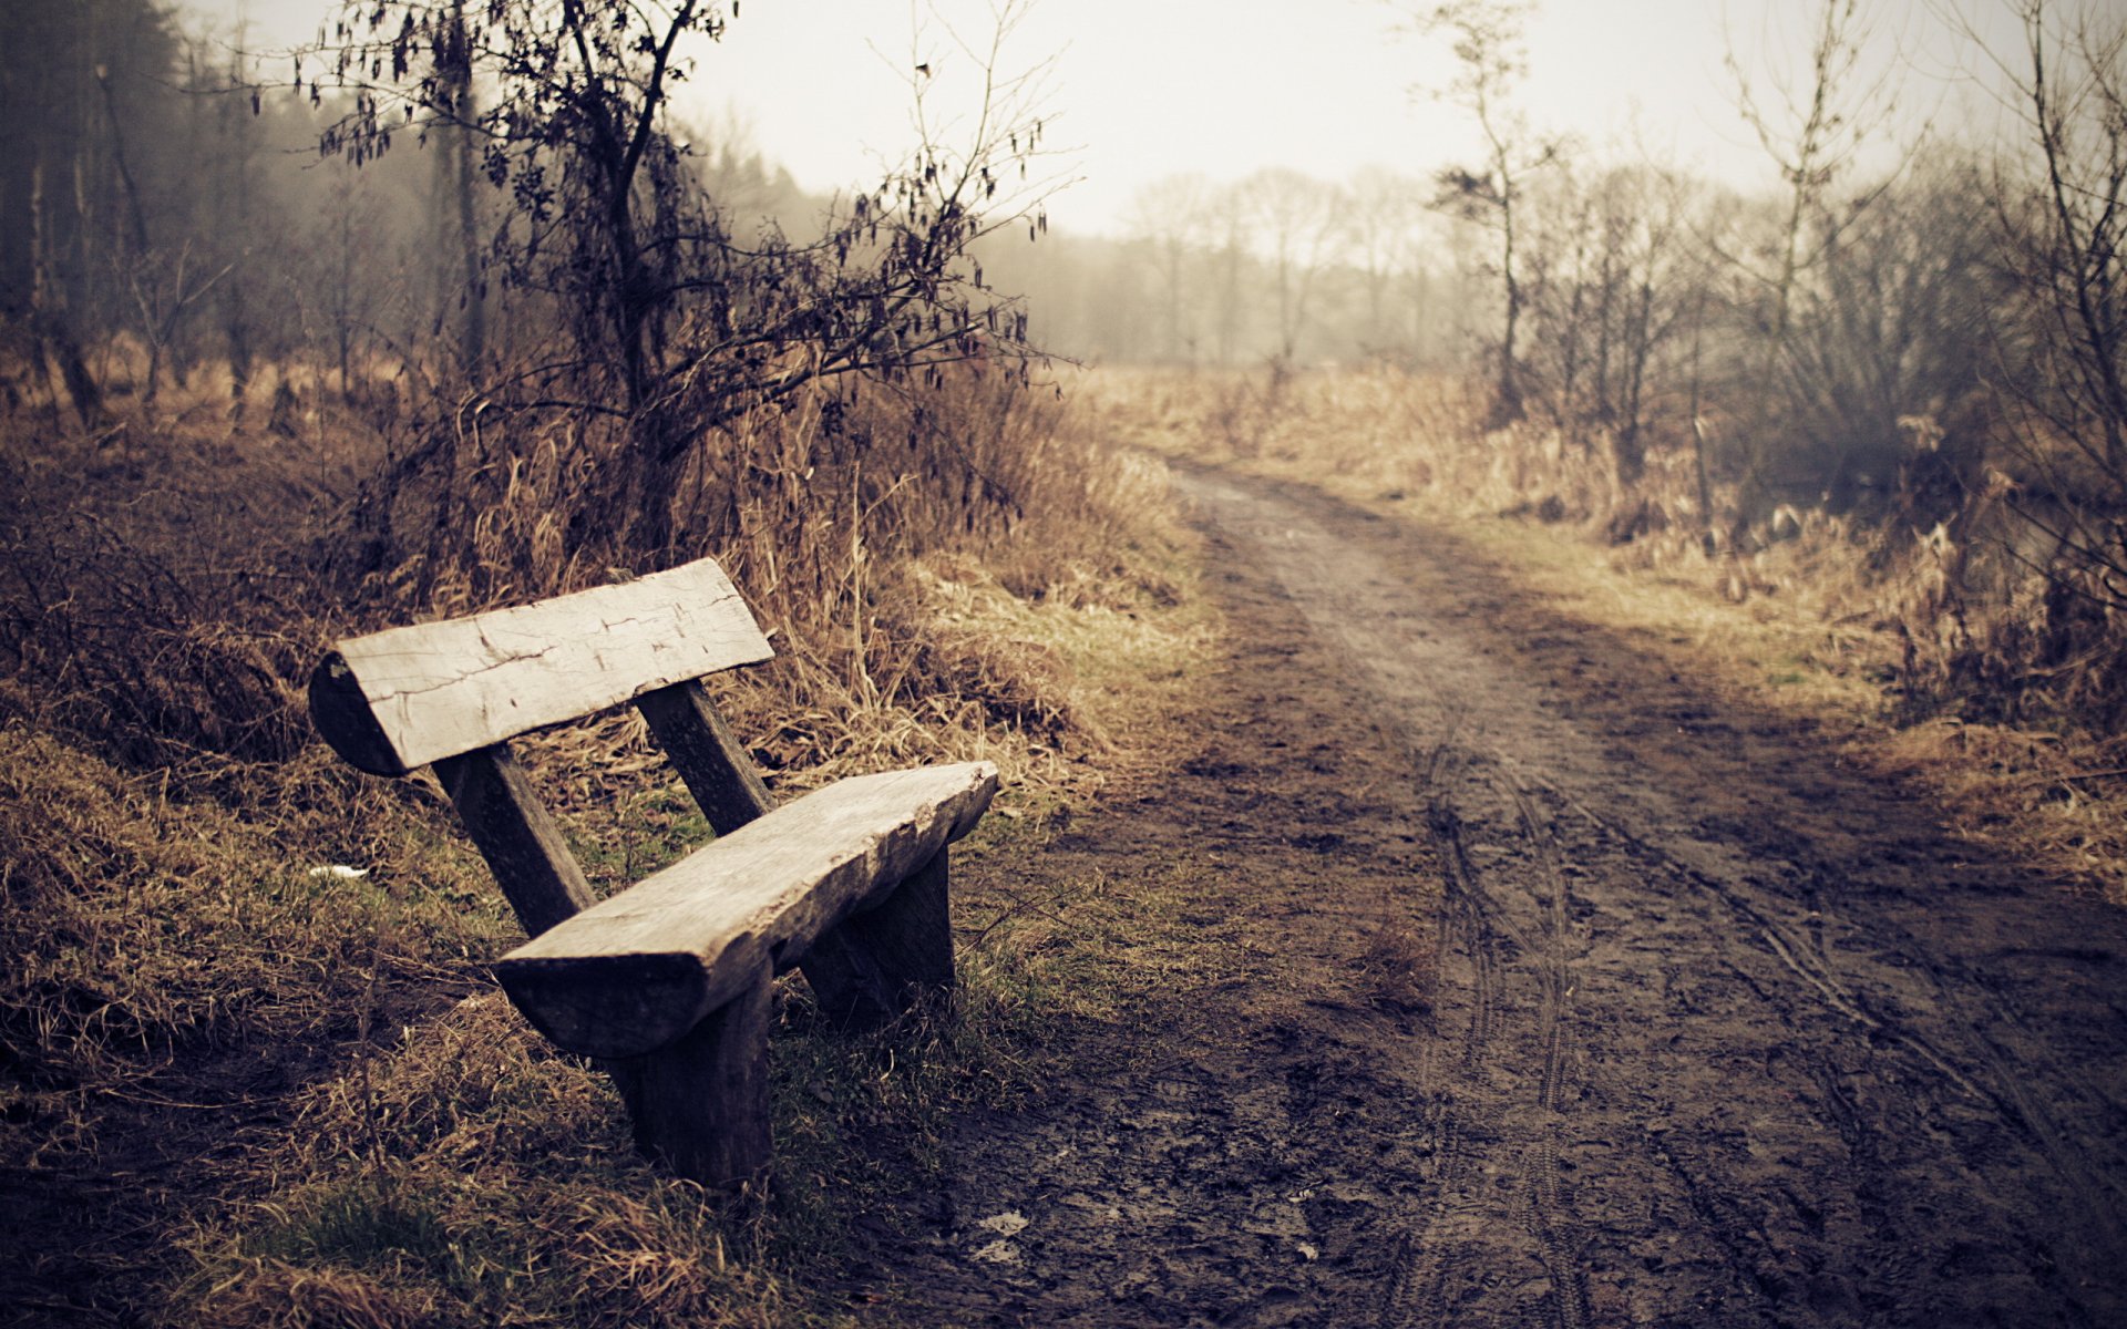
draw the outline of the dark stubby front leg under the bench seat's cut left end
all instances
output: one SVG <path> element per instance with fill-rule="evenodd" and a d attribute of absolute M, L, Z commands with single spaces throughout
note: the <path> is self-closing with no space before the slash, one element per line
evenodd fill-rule
<path fill-rule="evenodd" d="M 636 1148 L 713 1189 L 768 1178 L 768 1008 L 764 963 L 747 989 L 693 1033 L 613 1063 Z"/>

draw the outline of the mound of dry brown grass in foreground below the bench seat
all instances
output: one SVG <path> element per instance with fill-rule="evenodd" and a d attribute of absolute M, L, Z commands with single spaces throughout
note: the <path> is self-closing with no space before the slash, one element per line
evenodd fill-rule
<path fill-rule="evenodd" d="M 470 997 L 317 1084 L 266 1195 L 198 1227 L 181 1325 L 802 1325 L 604 1078 Z"/>

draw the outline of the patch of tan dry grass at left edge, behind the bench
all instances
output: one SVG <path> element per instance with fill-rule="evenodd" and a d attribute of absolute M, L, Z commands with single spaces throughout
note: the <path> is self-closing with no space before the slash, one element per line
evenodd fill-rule
<path fill-rule="evenodd" d="M 351 1036 L 381 987 L 474 982 L 504 933 L 476 859 L 389 795 L 308 770 L 262 825 L 0 727 L 0 1082 L 9 1161 L 94 1150 L 100 1099 L 174 1063 Z M 338 793 L 338 797 L 332 797 Z M 328 863 L 383 863 L 359 880 Z"/>

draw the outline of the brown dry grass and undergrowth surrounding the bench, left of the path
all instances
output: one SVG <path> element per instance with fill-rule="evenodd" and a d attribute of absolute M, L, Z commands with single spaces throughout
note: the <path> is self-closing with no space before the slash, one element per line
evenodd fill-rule
<path fill-rule="evenodd" d="M 302 717 L 336 636 L 625 574 L 564 529 L 570 425 L 489 432 L 447 493 L 402 466 L 434 423 L 285 381 L 236 423 L 204 376 L 96 438 L 34 402 L 0 421 L 0 1174 L 38 1229 L 6 1299 L 34 1323 L 838 1318 L 806 1272 L 868 1187 L 921 1174 L 925 1121 L 1055 1072 L 1072 1004 L 1040 997 L 1068 957 L 964 899 L 989 923 L 951 1016 L 844 1038 L 787 985 L 772 1199 L 644 1167 L 604 1080 L 493 997 L 515 923 L 434 785 L 357 776 Z M 719 534 L 691 553 L 778 651 L 717 683 L 772 787 L 989 757 L 1006 791 L 968 853 L 1012 855 L 1157 759 L 1215 623 L 1161 466 L 1070 406 L 974 378 L 819 396 L 700 470 L 679 529 Z M 598 889 L 708 836 L 630 714 L 523 746 Z M 881 1133 L 912 1161 L 881 1163 Z"/>

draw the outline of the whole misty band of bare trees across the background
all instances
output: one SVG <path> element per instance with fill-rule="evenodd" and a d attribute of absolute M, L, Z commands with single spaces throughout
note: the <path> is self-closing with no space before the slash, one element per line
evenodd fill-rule
<path fill-rule="evenodd" d="M 493 381 L 551 361 L 572 327 L 566 355 L 606 366 L 606 404 L 666 427 L 672 402 L 644 408 L 681 387 L 653 378 L 679 372 L 687 336 L 736 357 L 723 410 L 800 344 L 836 376 L 985 361 L 1025 330 L 1110 364 L 1468 368 L 1493 423 L 1553 421 L 1627 485 L 1648 449 L 1699 449 L 1753 512 L 1919 485 L 1921 515 L 1942 517 L 1989 468 L 2110 512 L 2127 476 L 2118 19 L 2016 4 L 2025 49 L 1987 55 L 2021 140 L 1936 138 L 1861 170 L 1887 138 L 1880 89 L 1855 85 L 1855 6 L 1827 2 L 1791 115 L 1742 106 L 1787 187 L 1742 196 L 1514 117 L 1519 11 L 1466 0 L 1427 21 L 1457 36 L 1451 100 L 1485 121 L 1485 159 L 1425 179 L 1174 176 L 1142 191 L 1127 238 L 1093 240 L 1046 236 L 1038 198 L 1000 206 L 995 142 L 923 145 L 878 191 L 808 198 L 638 83 L 608 111 L 657 151 L 602 155 L 583 130 L 596 98 L 527 74 L 568 6 L 355 11 L 257 89 L 228 45 L 147 0 L 17 0 L 0 19 L 0 317 L 40 355 L 4 372 L 57 374 L 94 419 L 113 344 L 145 357 L 128 385 L 153 400 L 202 359 L 238 393 L 291 359 L 342 391 L 364 366 Z M 676 13 L 721 36 L 717 6 Z M 625 87 L 600 79 L 655 49 L 615 45 L 583 89 Z M 621 166 L 625 187 L 600 183 Z M 949 291 L 966 300 L 929 304 Z M 2074 544 L 2116 559 L 2106 538 Z"/>

